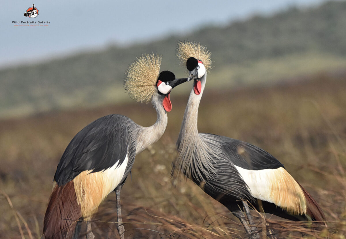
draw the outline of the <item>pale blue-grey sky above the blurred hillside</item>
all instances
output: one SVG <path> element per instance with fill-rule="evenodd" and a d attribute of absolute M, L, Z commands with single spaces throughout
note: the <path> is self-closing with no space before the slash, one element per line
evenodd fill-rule
<path fill-rule="evenodd" d="M 55 56 L 126 45 L 206 24 L 226 24 L 254 14 L 274 14 L 291 6 L 316 6 L 326 0 L 113 0 L 7 1 L 0 14 L 0 68 Z M 36 18 L 24 17 L 32 4 Z M 12 21 L 45 21 L 49 26 L 13 26 Z M 21 23 L 19 23 L 21 24 Z M 44 23 L 47 24 L 47 23 Z"/>

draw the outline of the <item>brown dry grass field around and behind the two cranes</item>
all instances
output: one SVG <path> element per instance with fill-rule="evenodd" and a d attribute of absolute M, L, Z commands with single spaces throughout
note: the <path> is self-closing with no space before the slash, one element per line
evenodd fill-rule
<path fill-rule="evenodd" d="M 273 228 L 279 238 L 345 238 L 346 74 L 317 74 L 267 88 L 211 91 L 208 84 L 199 131 L 244 140 L 270 152 L 310 192 L 328 219 L 328 228 L 316 229 L 265 215 L 267 225 L 262 223 L 261 229 Z M 191 83 L 184 86 L 190 88 Z M 187 99 L 187 94 L 172 93 L 165 134 L 136 157 L 132 178 L 122 189 L 128 238 L 245 237 L 224 206 L 190 181 L 170 179 Z M 110 113 L 124 114 L 143 126 L 156 120 L 151 105 L 131 103 L 0 121 L 0 238 L 40 238 L 64 149 L 85 125 Z M 256 212 L 254 216 L 264 220 Z M 115 221 L 115 194 L 111 193 L 93 218 L 95 236 L 118 238 Z"/>

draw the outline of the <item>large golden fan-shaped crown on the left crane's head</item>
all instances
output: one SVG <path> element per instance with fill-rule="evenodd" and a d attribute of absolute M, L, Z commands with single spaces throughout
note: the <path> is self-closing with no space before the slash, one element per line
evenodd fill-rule
<path fill-rule="evenodd" d="M 138 102 L 150 102 L 156 91 L 161 60 L 161 55 L 143 54 L 130 64 L 124 86 L 131 98 Z"/>

